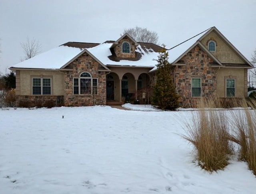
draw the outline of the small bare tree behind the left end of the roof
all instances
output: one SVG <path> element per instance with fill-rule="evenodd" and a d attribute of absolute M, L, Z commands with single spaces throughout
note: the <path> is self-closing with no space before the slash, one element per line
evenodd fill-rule
<path fill-rule="evenodd" d="M 23 48 L 23 52 L 25 54 L 25 57 L 21 58 L 21 61 L 30 59 L 34 56 L 36 56 L 41 51 L 41 44 L 36 41 L 35 38 L 32 38 L 31 40 L 27 37 L 26 42 L 21 42 L 20 46 Z"/>

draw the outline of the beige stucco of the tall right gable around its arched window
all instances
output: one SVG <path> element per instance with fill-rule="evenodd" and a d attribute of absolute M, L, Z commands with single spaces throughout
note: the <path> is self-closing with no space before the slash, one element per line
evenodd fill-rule
<path fill-rule="evenodd" d="M 208 48 L 208 42 L 212 40 L 216 43 L 216 51 L 212 51 L 221 63 L 245 63 L 244 60 L 218 35 L 212 31 L 201 42 Z"/>

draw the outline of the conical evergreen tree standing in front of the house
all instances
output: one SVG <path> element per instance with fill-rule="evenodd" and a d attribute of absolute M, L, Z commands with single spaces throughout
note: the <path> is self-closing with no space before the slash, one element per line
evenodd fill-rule
<path fill-rule="evenodd" d="M 174 110 L 178 107 L 178 95 L 175 93 L 168 52 L 162 50 L 158 59 L 156 84 L 154 86 L 152 104 L 161 109 Z"/>

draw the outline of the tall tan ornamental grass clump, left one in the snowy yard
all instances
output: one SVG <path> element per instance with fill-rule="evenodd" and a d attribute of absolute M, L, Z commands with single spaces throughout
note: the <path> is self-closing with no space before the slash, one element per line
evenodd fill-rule
<path fill-rule="evenodd" d="M 228 165 L 228 154 L 233 153 L 228 140 L 228 119 L 225 111 L 216 111 L 214 101 L 198 100 L 198 111 L 192 112 L 188 134 L 183 136 L 196 150 L 198 164 L 210 172 Z"/>

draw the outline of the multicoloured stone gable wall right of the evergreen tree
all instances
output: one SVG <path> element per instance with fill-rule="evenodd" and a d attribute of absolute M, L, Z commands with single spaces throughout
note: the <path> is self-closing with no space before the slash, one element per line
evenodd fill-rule
<path fill-rule="evenodd" d="M 201 78 L 202 97 L 215 97 L 217 69 L 210 67 L 213 60 L 199 47 L 196 46 L 182 59 L 186 65 L 175 68 L 176 93 L 180 95 L 179 101 L 183 107 L 194 107 L 197 97 L 191 97 L 192 78 Z M 209 81 L 211 80 L 211 81 Z"/>

